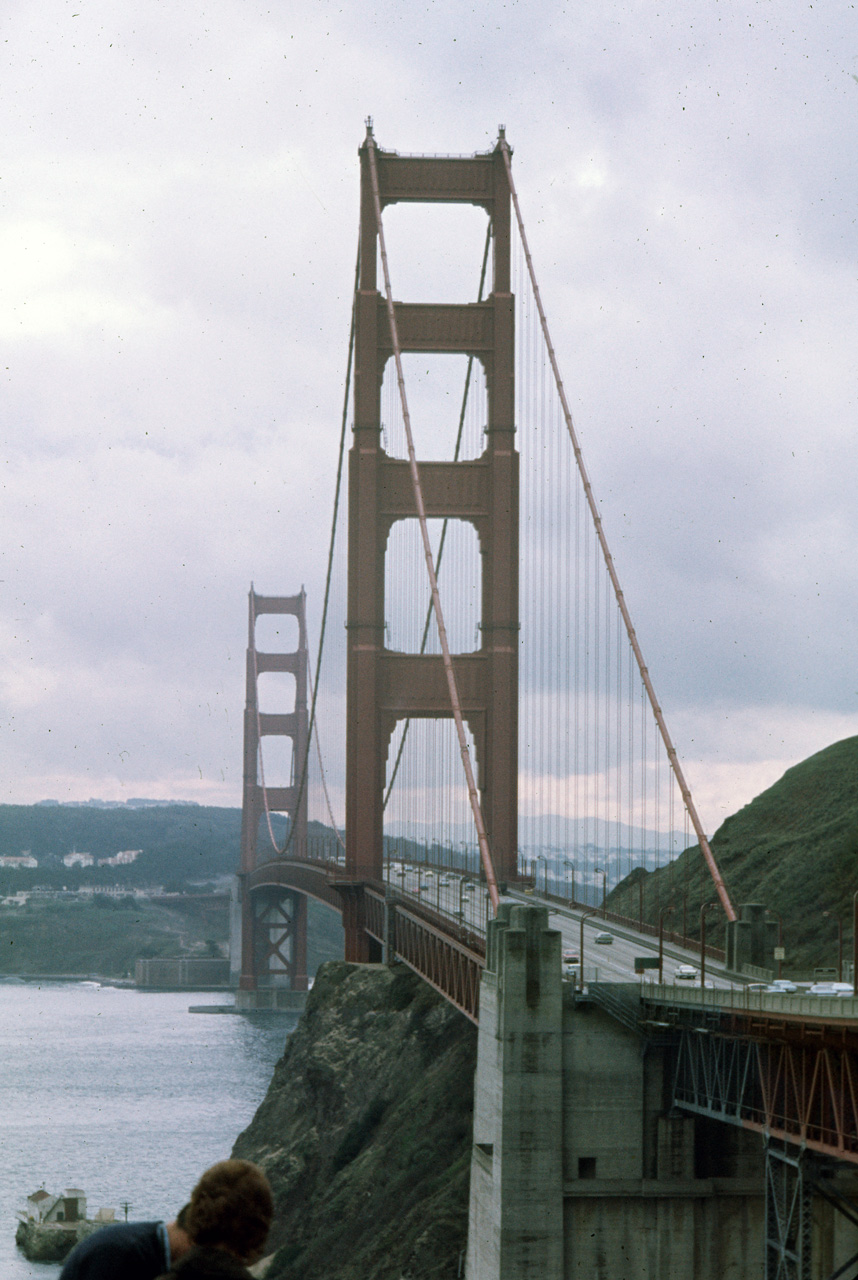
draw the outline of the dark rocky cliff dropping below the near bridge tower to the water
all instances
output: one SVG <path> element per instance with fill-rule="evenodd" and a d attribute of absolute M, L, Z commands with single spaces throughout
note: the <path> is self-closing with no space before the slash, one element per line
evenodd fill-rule
<path fill-rule="evenodd" d="M 324 965 L 233 1155 L 274 1188 L 268 1280 L 464 1274 L 476 1029 L 405 968 Z"/>

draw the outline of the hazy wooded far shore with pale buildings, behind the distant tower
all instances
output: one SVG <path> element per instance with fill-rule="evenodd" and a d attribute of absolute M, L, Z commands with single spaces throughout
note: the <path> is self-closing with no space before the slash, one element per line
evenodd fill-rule
<path fill-rule="evenodd" d="M 286 819 L 274 815 L 274 829 L 282 840 Z M 0 867 L 0 897 L 36 887 L 68 891 L 36 895 L 24 906 L 0 905 L 0 974 L 122 978 L 133 974 L 138 957 L 225 955 L 228 897 L 200 893 L 200 886 L 225 887 L 223 877 L 238 867 L 239 838 L 241 809 L 0 805 L 0 854 L 28 851 L 38 860 L 35 868 Z M 97 863 L 128 849 L 141 850 L 140 856 L 120 867 L 63 864 L 74 850 Z M 74 892 L 115 884 L 128 895 L 88 899 Z M 169 897 L 132 897 L 133 888 L 151 886 Z M 309 911 L 312 974 L 324 960 L 342 956 L 343 934 L 336 911 L 314 901 Z"/>

